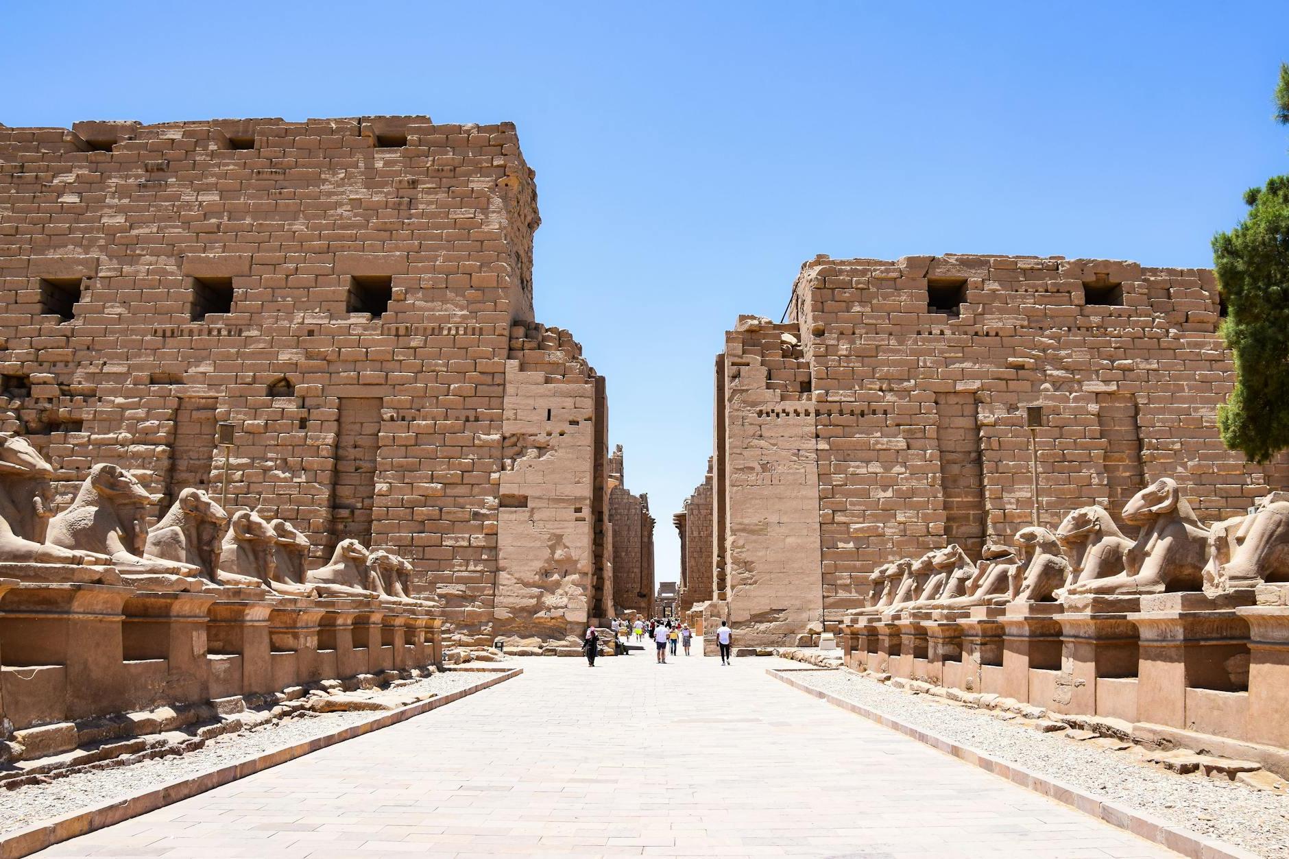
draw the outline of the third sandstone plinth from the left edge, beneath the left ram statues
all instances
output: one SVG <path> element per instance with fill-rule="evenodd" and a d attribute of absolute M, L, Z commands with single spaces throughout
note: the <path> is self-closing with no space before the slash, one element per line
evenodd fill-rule
<path fill-rule="evenodd" d="M 268 615 L 278 597 L 263 588 L 222 588 L 210 605 L 206 651 L 213 698 L 273 690 Z"/>

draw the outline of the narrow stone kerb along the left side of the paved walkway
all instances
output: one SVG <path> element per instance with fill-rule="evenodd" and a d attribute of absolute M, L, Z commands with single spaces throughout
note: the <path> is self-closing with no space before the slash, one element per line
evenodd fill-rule
<path fill-rule="evenodd" d="M 0 837 L 0 859 L 18 859 L 19 856 L 27 856 L 62 841 L 68 841 L 77 836 L 94 832 L 95 829 L 115 825 L 122 820 L 129 820 L 130 818 L 147 814 L 148 811 L 156 811 L 157 809 L 173 805 L 180 800 L 187 800 L 197 796 L 199 793 L 205 793 L 206 791 L 211 791 L 231 782 L 244 779 L 247 775 L 254 775 L 255 773 L 277 766 L 278 764 L 294 761 L 298 757 L 304 757 L 311 752 L 324 749 L 329 745 L 335 745 L 336 743 L 342 743 L 347 739 L 353 739 L 354 736 L 361 736 L 362 734 L 370 734 L 371 731 L 380 730 L 382 727 L 389 727 L 391 725 L 407 721 L 414 716 L 420 716 L 422 713 L 428 713 L 432 709 L 438 709 L 440 707 L 450 704 L 454 700 L 460 700 L 467 695 L 473 695 L 477 691 L 482 691 L 490 686 L 496 686 L 500 682 L 505 682 L 507 680 L 512 680 L 513 677 L 518 677 L 523 673 L 523 668 L 472 668 L 470 671 L 478 673 L 496 673 L 496 677 L 490 677 L 473 686 L 458 689 L 454 693 L 449 693 L 438 698 L 431 698 L 429 700 L 410 704 L 402 709 L 384 713 L 371 721 L 349 725 L 348 727 L 331 734 L 324 734 L 304 743 L 296 743 L 294 745 L 287 745 L 286 748 L 280 748 L 276 752 L 269 752 L 268 755 L 249 757 L 236 764 L 223 766 L 218 770 L 171 782 L 170 784 L 164 784 L 152 791 L 147 791 L 146 793 L 139 793 L 125 800 L 117 800 L 98 807 L 85 809 L 53 820 L 45 820 L 27 827 L 26 829 L 18 829 L 17 832 Z"/>

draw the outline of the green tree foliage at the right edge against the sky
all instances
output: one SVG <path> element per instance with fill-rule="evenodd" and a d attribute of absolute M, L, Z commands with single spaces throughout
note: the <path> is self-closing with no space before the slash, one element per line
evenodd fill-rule
<path fill-rule="evenodd" d="M 1280 64 L 1276 121 L 1289 125 L 1289 64 Z M 1235 353 L 1235 391 L 1218 410 L 1222 441 L 1252 462 L 1289 449 L 1289 175 L 1244 193 L 1249 213 L 1213 237 L 1226 301 L 1222 337 Z"/>

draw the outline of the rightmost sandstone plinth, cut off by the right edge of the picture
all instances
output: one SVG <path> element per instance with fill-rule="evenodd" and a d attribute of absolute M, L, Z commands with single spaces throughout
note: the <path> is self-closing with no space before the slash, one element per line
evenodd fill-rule
<path fill-rule="evenodd" d="M 1249 624 L 1248 739 L 1289 748 L 1289 607 L 1235 611 Z"/>

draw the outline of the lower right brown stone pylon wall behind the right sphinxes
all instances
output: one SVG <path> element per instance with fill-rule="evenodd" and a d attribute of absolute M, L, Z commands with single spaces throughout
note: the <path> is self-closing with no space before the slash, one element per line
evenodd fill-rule
<path fill-rule="evenodd" d="M 1042 525 L 1090 503 L 1118 516 L 1159 477 L 1203 520 L 1243 513 L 1285 468 L 1218 437 L 1221 312 L 1204 270 L 806 263 L 788 321 L 741 317 L 717 360 L 713 575 L 740 641 L 833 626 L 892 558 L 1011 543 L 1032 517 L 1029 405 Z"/>

